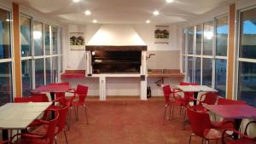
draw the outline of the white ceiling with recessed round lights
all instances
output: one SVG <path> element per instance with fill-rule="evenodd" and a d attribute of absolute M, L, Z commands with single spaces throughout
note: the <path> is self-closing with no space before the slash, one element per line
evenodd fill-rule
<path fill-rule="evenodd" d="M 193 20 L 200 14 L 229 3 L 230 0 L 12 0 L 65 23 L 87 24 L 96 19 L 106 24 L 139 24 L 150 20 L 154 24 L 171 24 Z M 90 9 L 91 14 L 84 11 Z M 154 16 L 154 10 L 160 14 Z"/>

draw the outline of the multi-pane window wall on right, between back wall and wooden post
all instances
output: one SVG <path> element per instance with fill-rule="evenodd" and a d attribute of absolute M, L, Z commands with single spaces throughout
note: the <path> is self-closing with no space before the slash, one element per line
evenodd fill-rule
<path fill-rule="evenodd" d="M 187 70 L 187 80 L 211 86 L 218 89 L 219 95 L 225 96 L 228 16 L 216 17 L 202 24 L 189 26 L 184 32 L 186 30 L 188 39 L 183 38 L 183 43 L 188 45 L 185 45 L 183 51 L 188 49 L 188 53 L 183 54 L 183 63 L 187 63 L 184 68 Z"/>

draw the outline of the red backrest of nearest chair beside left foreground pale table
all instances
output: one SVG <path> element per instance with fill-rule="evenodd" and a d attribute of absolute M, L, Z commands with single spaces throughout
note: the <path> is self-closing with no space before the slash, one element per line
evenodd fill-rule
<path fill-rule="evenodd" d="M 49 144 L 53 144 L 54 140 L 55 140 L 55 126 L 58 122 L 59 119 L 59 112 L 58 111 L 52 111 L 55 112 L 55 118 L 49 120 L 49 126 L 48 126 L 48 130 L 46 131 L 46 134 L 44 135 L 45 138 L 49 139 Z"/>

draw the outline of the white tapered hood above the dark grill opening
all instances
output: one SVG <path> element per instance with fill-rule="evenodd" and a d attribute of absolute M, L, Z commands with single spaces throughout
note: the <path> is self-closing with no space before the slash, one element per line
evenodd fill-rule
<path fill-rule="evenodd" d="M 102 25 L 86 46 L 146 46 L 129 25 Z"/>

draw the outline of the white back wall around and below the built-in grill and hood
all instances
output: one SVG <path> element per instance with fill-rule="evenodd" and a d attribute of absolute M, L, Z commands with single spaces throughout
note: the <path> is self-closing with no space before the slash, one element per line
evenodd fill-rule
<path fill-rule="evenodd" d="M 64 27 L 64 67 L 65 69 L 84 70 L 85 58 L 84 51 L 70 50 L 69 48 L 69 32 L 84 32 L 85 43 L 90 41 L 90 38 L 101 28 L 100 24 L 90 24 L 86 26 L 68 25 Z M 119 25 L 122 26 L 122 25 Z M 127 26 L 127 25 L 125 25 Z M 154 69 L 179 69 L 179 37 L 180 28 L 170 26 L 170 41 L 169 44 L 154 43 L 154 25 L 131 25 L 137 34 L 148 45 L 148 53 L 154 53 L 151 59 L 148 60 L 148 67 Z M 157 78 L 150 78 L 148 86 L 152 87 L 153 95 L 162 95 L 160 87 L 157 87 L 154 82 Z M 65 80 L 63 80 L 65 81 Z M 177 84 L 183 79 L 167 78 L 166 83 Z M 98 93 L 98 78 L 84 78 L 70 80 L 73 87 L 76 84 L 87 84 L 90 88 L 89 95 L 99 95 Z M 140 79 L 139 78 L 107 78 L 107 95 L 140 95 Z"/>

